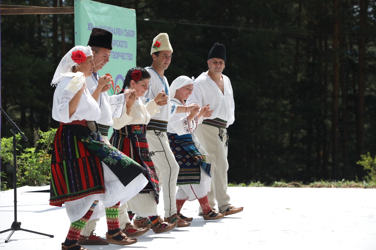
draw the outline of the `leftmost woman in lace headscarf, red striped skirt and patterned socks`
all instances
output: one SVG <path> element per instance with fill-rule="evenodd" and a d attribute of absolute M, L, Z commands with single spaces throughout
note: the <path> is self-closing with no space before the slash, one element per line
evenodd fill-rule
<path fill-rule="evenodd" d="M 77 239 L 92 217 L 106 215 L 106 240 L 129 245 L 137 240 L 120 231 L 118 208 L 147 184 L 146 171 L 135 161 L 103 143 L 96 122 L 100 109 L 85 75 L 94 68 L 91 48 L 76 46 L 61 60 L 51 85 L 53 119 L 60 122 L 51 159 L 50 205 L 65 208 L 71 221 L 62 250 L 84 250 Z"/>

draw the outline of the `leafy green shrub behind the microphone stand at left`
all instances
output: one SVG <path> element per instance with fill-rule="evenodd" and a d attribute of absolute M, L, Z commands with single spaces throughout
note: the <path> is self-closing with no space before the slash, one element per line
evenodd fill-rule
<path fill-rule="evenodd" d="M 39 150 L 37 148 L 26 148 L 22 150 L 22 146 L 18 143 L 21 136 L 19 134 L 16 135 L 17 187 L 24 185 L 43 186 L 49 184 L 51 166 L 50 151 L 52 149 L 55 133 L 56 129 L 51 129 L 47 132 L 38 132 L 41 138 L 36 142 Z M 1 139 L 0 157 L 3 163 L 9 163 L 13 166 L 13 137 Z M 4 173 L 2 173 L 2 177 L 5 177 Z M 6 187 L 2 182 L 1 190 L 6 190 L 7 188 L 9 187 Z"/>

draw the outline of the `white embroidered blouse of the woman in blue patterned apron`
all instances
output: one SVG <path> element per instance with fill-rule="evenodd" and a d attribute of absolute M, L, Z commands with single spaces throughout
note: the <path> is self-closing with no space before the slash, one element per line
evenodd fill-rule
<path fill-rule="evenodd" d="M 176 98 L 171 98 L 171 103 L 184 106 L 184 104 Z M 171 116 L 170 121 L 167 123 L 167 132 L 177 134 L 179 136 L 183 134 L 193 134 L 198 124 L 197 116 L 194 117 L 191 122 L 189 122 L 189 114 L 190 113 L 175 113 L 173 116 Z"/>

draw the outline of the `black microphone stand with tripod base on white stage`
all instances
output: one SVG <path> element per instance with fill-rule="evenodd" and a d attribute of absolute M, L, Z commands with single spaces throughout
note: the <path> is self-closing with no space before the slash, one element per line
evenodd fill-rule
<path fill-rule="evenodd" d="M 53 238 L 53 235 L 50 235 L 50 234 L 39 233 L 39 232 L 35 232 L 35 231 L 23 229 L 23 228 L 21 228 L 21 222 L 17 221 L 17 173 L 16 173 L 16 168 L 17 168 L 17 162 L 16 162 L 16 144 L 17 144 L 17 141 L 16 141 L 16 134 L 20 133 L 21 137 L 25 141 L 27 141 L 27 138 L 21 132 L 20 128 L 17 127 L 16 123 L 14 123 L 11 120 L 11 118 L 9 118 L 9 116 L 4 112 L 4 110 L 1 107 L 0 107 L 0 110 L 1 110 L 1 112 L 4 114 L 4 116 L 9 120 L 9 122 L 13 126 L 13 128 L 11 129 L 11 131 L 13 133 L 13 181 L 14 181 L 14 221 L 13 221 L 12 226 L 11 226 L 10 229 L 1 231 L 0 234 L 12 231 L 11 234 L 8 236 L 8 238 L 6 238 L 5 243 L 8 243 L 9 238 L 11 238 L 11 236 L 14 233 L 14 231 L 18 231 L 18 230 L 22 230 L 22 231 L 26 231 L 26 232 L 30 232 L 30 233 L 36 233 L 36 234 L 40 234 L 40 235 L 45 235 L 45 236 L 49 236 L 49 237 Z"/>

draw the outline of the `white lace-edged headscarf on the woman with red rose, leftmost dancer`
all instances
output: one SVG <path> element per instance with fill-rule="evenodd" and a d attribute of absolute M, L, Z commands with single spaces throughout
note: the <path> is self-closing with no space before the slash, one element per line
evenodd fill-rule
<path fill-rule="evenodd" d="M 78 46 L 73 47 L 67 54 L 65 54 L 65 56 L 61 59 L 58 65 L 58 68 L 56 68 L 55 74 L 53 75 L 52 82 L 51 82 L 52 86 L 56 87 L 58 83 L 64 77 L 66 77 L 65 75 L 61 75 L 62 73 L 72 72 L 72 68 L 78 65 L 78 63 L 73 62 L 73 59 L 71 58 L 72 52 L 75 52 L 77 50 L 82 51 L 86 57 L 93 55 L 90 46 L 85 47 L 85 46 L 78 45 Z"/>

